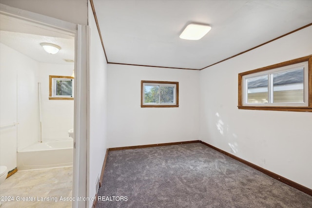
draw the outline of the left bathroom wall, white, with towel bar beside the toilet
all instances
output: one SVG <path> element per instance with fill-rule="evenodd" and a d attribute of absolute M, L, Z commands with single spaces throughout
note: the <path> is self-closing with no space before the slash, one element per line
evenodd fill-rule
<path fill-rule="evenodd" d="M 1 129 L 1 165 L 12 170 L 17 167 L 17 148 L 33 144 L 39 137 L 39 125 L 36 125 L 39 124 L 39 65 L 2 43 L 0 46 L 0 125 L 20 123 L 15 127 Z"/>

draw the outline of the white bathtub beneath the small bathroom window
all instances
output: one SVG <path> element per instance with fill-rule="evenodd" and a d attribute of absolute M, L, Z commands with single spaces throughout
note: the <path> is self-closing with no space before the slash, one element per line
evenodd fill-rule
<path fill-rule="evenodd" d="M 18 170 L 73 166 L 73 139 L 36 143 L 18 151 Z"/>

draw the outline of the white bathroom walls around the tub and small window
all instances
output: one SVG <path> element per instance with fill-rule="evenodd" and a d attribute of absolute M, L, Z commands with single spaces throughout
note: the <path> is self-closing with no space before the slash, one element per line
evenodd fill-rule
<path fill-rule="evenodd" d="M 39 82 L 43 142 L 70 138 L 68 130 L 74 125 L 74 102 L 48 99 L 49 75 L 70 76 L 74 65 L 39 63 L 0 44 L 0 125 L 19 123 L 1 128 L 0 162 L 13 170 L 18 167 L 16 152 L 40 141 Z"/>

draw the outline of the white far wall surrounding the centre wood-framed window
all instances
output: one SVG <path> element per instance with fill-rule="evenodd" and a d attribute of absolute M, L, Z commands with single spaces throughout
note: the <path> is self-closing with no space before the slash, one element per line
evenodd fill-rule
<path fill-rule="evenodd" d="M 198 139 L 199 72 L 108 65 L 108 147 Z M 141 80 L 178 81 L 178 108 L 141 108 Z"/>

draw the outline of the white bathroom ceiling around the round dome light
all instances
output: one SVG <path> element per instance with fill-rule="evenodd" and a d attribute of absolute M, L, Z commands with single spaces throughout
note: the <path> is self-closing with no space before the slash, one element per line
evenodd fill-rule
<path fill-rule="evenodd" d="M 38 62 L 73 64 L 64 59 L 75 59 L 74 36 L 4 15 L 0 15 L 0 42 Z M 41 47 L 42 42 L 59 45 L 61 50 L 48 54 Z"/>

